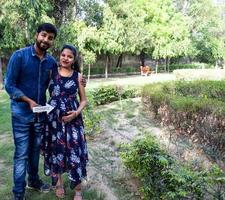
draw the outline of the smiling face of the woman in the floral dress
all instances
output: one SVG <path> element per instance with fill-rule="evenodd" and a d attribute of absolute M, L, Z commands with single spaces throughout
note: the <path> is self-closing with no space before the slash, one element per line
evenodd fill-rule
<path fill-rule="evenodd" d="M 65 68 L 71 68 L 74 63 L 74 55 L 70 49 L 64 49 L 60 54 L 60 66 Z"/>

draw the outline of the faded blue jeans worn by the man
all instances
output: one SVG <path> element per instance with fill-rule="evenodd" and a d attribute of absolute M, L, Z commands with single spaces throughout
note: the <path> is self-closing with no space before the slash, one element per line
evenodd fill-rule
<path fill-rule="evenodd" d="M 26 171 L 28 181 L 36 181 L 40 155 L 41 134 L 44 122 L 26 122 L 23 119 L 12 117 L 13 137 L 15 144 L 13 166 L 13 193 L 23 195 L 26 186 Z"/>

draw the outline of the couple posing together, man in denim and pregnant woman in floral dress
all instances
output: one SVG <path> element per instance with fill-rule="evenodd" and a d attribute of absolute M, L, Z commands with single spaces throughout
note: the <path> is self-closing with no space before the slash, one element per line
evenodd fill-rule
<path fill-rule="evenodd" d="M 86 81 L 79 73 L 74 46 L 63 46 L 59 66 L 47 54 L 56 36 L 54 25 L 41 24 L 34 45 L 14 52 L 7 66 L 5 89 L 11 99 L 15 144 L 14 200 L 25 199 L 26 186 L 41 192 L 51 189 L 38 175 L 40 149 L 44 155 L 45 174 L 51 175 L 56 196 L 64 197 L 62 174 L 68 172 L 70 187 L 75 190 L 74 200 L 82 199 L 81 180 L 86 177 L 88 160 L 81 116 L 87 102 Z M 47 88 L 49 104 L 54 109 L 48 115 L 34 113 L 35 106 L 45 105 Z"/>

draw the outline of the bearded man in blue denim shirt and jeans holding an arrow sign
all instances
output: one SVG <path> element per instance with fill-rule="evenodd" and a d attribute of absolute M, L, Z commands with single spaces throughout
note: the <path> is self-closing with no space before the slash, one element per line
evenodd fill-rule
<path fill-rule="evenodd" d="M 57 67 L 55 59 L 46 53 L 53 45 L 57 30 L 50 23 L 41 24 L 35 44 L 19 49 L 11 56 L 6 73 L 5 89 L 11 98 L 12 129 L 15 144 L 13 193 L 14 200 L 25 199 L 27 187 L 48 192 L 50 186 L 38 176 L 41 133 L 45 113 L 35 114 L 32 108 L 45 105 L 50 71 Z"/>

